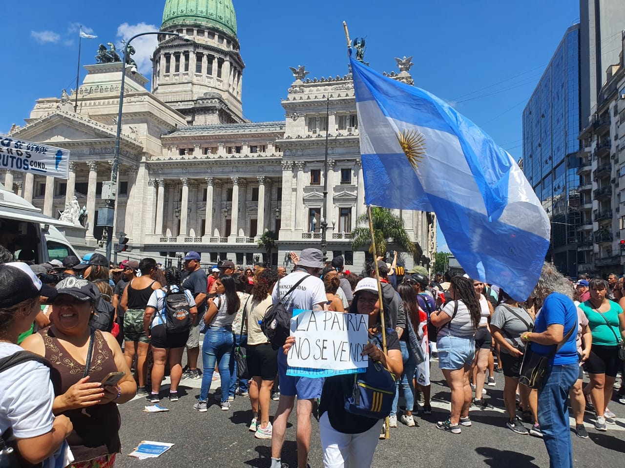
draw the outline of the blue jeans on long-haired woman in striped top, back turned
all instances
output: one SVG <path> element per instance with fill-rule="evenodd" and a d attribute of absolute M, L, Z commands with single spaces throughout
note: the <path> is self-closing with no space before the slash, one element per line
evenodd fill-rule
<path fill-rule="evenodd" d="M 212 373 L 215 363 L 221 376 L 221 402 L 228 401 L 230 388 L 230 358 L 232 356 L 232 330 L 226 327 L 209 328 L 204 334 L 202 345 L 202 388 L 199 392 L 199 401 L 207 401 L 208 391 L 211 389 Z"/>

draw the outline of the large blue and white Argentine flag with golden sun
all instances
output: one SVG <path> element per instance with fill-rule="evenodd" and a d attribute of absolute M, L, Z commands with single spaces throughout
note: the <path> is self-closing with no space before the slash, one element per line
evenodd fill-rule
<path fill-rule="evenodd" d="M 517 163 L 441 99 L 350 62 L 367 205 L 436 213 L 471 278 L 526 300 L 550 225 Z"/>

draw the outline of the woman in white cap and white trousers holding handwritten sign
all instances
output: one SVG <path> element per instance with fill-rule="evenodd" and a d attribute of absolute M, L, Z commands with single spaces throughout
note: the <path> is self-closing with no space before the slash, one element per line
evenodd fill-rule
<path fill-rule="evenodd" d="M 351 310 L 355 313 L 369 316 L 369 343 L 364 347 L 362 355 L 369 357 L 369 369 L 367 373 L 347 374 L 326 378 L 321 393 L 321 404 L 319 404 L 319 430 L 321 431 L 321 445 L 323 446 L 324 467 L 339 468 L 345 466 L 371 466 L 373 453 L 376 450 L 379 437 L 379 427 L 381 420 L 389 414 L 383 411 L 376 412 L 376 407 L 371 407 L 365 411 L 369 417 L 355 414 L 358 409 L 354 409 L 354 404 L 350 404 L 349 399 L 354 392 L 354 382 L 361 381 L 369 376 L 372 369 L 381 369 L 387 373 L 379 364 L 396 376 L 403 371 L 401 348 L 397 333 L 392 329 L 386 331 L 387 353 L 382 353 L 382 326 L 380 319 L 380 308 L 377 293 L 377 282 L 374 278 L 363 278 L 356 286 L 354 300 Z M 289 337 L 284 345 L 285 350 L 292 346 L 294 337 Z M 285 351 L 286 353 L 286 351 Z M 356 378 L 355 378 L 356 377 Z M 394 384 L 393 388 L 394 388 Z M 390 393 L 390 404 L 393 393 Z M 382 396 L 379 392 L 374 396 Z M 380 407 L 384 403 L 380 401 Z M 348 412 L 349 408 L 351 412 Z M 373 417 L 371 417 L 373 416 Z"/>

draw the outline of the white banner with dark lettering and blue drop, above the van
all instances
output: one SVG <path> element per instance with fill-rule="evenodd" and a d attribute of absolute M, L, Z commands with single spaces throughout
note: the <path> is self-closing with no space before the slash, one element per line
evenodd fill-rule
<path fill-rule="evenodd" d="M 67 179 L 69 150 L 0 135 L 0 168 Z"/>

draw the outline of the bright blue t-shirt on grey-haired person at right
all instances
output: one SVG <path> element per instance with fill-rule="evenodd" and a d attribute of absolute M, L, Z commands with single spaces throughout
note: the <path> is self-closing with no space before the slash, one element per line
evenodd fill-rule
<path fill-rule="evenodd" d="M 562 345 L 562 348 L 551 359 L 554 366 L 562 366 L 564 364 L 577 364 L 577 309 L 573 301 L 561 293 L 551 293 L 542 303 L 541 313 L 536 317 L 534 322 L 534 333 L 542 333 L 552 324 L 564 324 L 562 336 L 573 328 L 573 333 Z M 538 354 L 549 354 L 554 350 L 555 344 L 545 345 L 532 343 L 532 351 Z"/>

